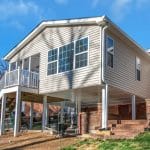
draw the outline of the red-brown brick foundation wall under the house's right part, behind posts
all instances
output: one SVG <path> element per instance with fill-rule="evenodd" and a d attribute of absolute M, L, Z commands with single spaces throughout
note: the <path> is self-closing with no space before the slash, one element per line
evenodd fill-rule
<path fill-rule="evenodd" d="M 108 108 L 108 120 L 131 120 L 131 104 L 114 105 Z M 136 104 L 137 119 L 146 119 L 145 103 Z M 92 133 L 101 128 L 102 106 L 82 108 L 80 113 L 80 134 Z M 150 101 L 147 103 L 147 116 L 150 119 Z"/>

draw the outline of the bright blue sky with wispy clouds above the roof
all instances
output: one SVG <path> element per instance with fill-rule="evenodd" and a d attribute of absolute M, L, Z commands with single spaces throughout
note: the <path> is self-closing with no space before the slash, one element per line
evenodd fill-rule
<path fill-rule="evenodd" d="M 0 0 L 0 57 L 42 20 L 101 15 L 150 48 L 150 0 Z"/>

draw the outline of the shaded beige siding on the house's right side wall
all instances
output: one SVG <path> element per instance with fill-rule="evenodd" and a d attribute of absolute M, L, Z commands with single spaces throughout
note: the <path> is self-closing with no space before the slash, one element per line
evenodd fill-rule
<path fill-rule="evenodd" d="M 105 79 L 112 86 L 143 98 L 150 97 L 150 59 L 131 48 L 126 41 L 112 33 L 107 33 L 115 40 L 114 67 L 106 67 Z M 141 60 L 141 81 L 136 80 L 136 57 Z"/>

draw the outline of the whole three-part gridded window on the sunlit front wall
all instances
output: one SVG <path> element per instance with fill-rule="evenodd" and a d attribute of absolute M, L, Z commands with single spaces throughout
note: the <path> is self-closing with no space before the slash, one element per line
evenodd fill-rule
<path fill-rule="evenodd" d="M 70 71 L 88 64 L 88 38 L 71 42 L 48 52 L 47 74 Z"/>

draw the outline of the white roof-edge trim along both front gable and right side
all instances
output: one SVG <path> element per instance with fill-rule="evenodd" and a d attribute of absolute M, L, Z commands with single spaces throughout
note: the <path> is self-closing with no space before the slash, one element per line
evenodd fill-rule
<path fill-rule="evenodd" d="M 136 43 L 131 37 L 129 37 L 122 29 L 115 25 L 107 16 L 94 17 L 94 18 L 83 18 L 83 19 L 70 19 L 70 20 L 59 20 L 59 21 L 44 21 L 39 24 L 27 37 L 25 37 L 15 48 L 13 48 L 5 57 L 4 60 L 10 60 L 13 55 L 21 50 L 32 38 L 34 38 L 38 33 L 40 33 L 45 27 L 52 26 L 70 26 L 70 25 L 79 25 L 79 24 L 97 24 L 99 26 L 104 25 L 104 23 L 110 24 L 115 29 L 117 29 L 121 34 L 123 34 L 129 41 L 135 44 L 147 58 L 150 59 L 149 54 L 145 52 L 138 43 Z"/>

